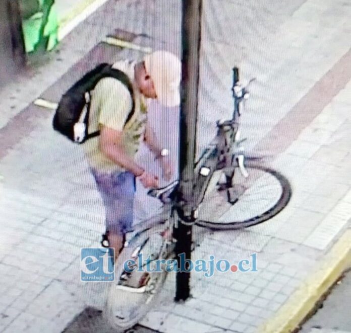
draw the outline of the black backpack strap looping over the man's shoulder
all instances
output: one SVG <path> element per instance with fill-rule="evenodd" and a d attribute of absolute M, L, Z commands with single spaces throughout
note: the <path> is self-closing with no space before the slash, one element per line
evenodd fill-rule
<path fill-rule="evenodd" d="M 120 69 L 116 69 L 116 68 L 112 68 L 112 65 L 107 66 L 103 72 L 102 72 L 102 76 L 100 79 L 105 78 L 105 77 L 113 77 L 115 79 L 118 79 L 129 91 L 129 93 L 131 94 L 132 97 L 132 109 L 129 112 L 127 119 L 125 121 L 124 126 L 126 126 L 126 124 L 131 120 L 131 118 L 133 117 L 134 111 L 135 111 L 135 101 L 134 101 L 134 91 L 133 91 L 133 85 L 131 80 L 129 79 L 128 75 L 126 73 L 124 73 L 122 70 Z M 89 114 L 90 114 L 90 103 L 91 103 L 91 94 L 90 94 L 90 99 L 87 102 L 87 117 L 89 120 Z M 88 128 L 89 124 L 87 121 L 87 128 Z M 93 133 L 87 134 L 86 136 L 86 140 L 94 138 L 95 136 L 100 135 L 100 131 L 95 131 Z"/>

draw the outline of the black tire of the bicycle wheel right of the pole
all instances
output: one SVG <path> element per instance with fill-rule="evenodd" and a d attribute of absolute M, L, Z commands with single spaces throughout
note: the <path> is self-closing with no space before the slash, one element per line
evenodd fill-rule
<path fill-rule="evenodd" d="M 247 228 L 269 220 L 270 218 L 276 216 L 285 208 L 285 206 L 288 204 L 291 198 L 291 186 L 287 178 L 283 176 L 280 172 L 275 171 L 266 166 L 252 164 L 252 165 L 249 165 L 249 168 L 261 170 L 263 172 L 271 174 L 273 177 L 276 178 L 282 190 L 281 195 L 277 200 L 277 202 L 269 209 L 264 211 L 263 213 L 260 213 L 256 216 L 253 216 L 249 219 L 245 219 L 242 221 L 238 220 L 238 221 L 219 223 L 217 221 L 200 219 L 197 221 L 196 224 L 213 229 L 213 230 L 235 230 L 235 229 Z"/>

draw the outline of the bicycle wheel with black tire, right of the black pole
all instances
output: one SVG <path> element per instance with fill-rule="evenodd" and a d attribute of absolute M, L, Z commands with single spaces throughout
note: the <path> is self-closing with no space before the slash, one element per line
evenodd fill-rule
<path fill-rule="evenodd" d="M 225 189 L 218 183 L 223 172 L 212 175 L 197 224 L 216 230 L 246 228 L 267 221 L 287 205 L 291 187 L 282 174 L 260 165 L 247 170 L 249 177 L 244 178 L 236 169 L 231 187 Z"/>

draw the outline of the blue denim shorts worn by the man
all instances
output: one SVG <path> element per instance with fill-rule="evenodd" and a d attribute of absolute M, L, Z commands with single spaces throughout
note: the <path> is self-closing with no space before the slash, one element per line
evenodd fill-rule
<path fill-rule="evenodd" d="M 119 234 L 133 231 L 135 176 L 130 172 L 91 171 L 105 206 L 106 231 Z"/>

